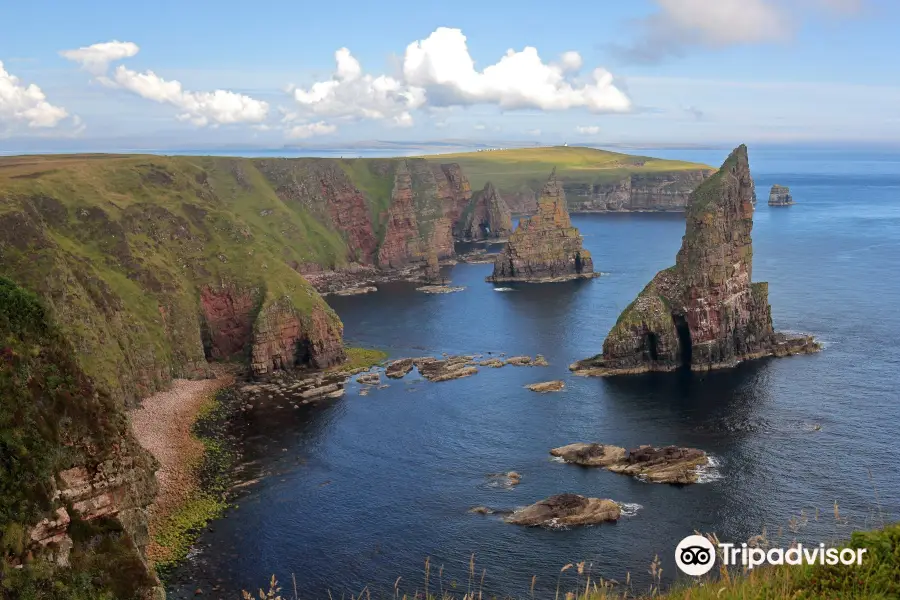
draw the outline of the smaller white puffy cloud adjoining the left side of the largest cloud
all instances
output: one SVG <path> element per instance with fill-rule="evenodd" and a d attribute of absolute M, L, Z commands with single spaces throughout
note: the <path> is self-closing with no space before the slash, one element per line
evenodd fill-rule
<path fill-rule="evenodd" d="M 293 89 L 301 110 L 320 117 L 385 120 L 401 127 L 413 124 L 411 110 L 425 104 L 421 89 L 380 75 L 364 75 L 359 61 L 347 48 L 334 53 L 337 68 L 328 81 L 309 89 Z"/>

